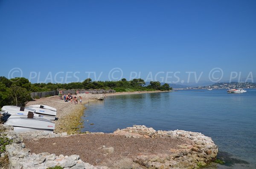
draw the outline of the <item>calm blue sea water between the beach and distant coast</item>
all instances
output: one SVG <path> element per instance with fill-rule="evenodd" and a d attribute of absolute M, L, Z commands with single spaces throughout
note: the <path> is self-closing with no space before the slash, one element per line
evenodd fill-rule
<path fill-rule="evenodd" d="M 155 130 L 201 132 L 219 146 L 218 158 L 226 164 L 217 168 L 255 169 L 256 89 L 246 90 L 243 94 L 180 90 L 109 96 L 85 105 L 82 130 L 113 132 L 137 124 Z"/>

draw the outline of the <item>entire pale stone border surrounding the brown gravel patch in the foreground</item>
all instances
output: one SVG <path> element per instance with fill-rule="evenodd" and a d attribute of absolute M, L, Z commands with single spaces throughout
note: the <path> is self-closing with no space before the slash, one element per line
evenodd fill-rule
<path fill-rule="evenodd" d="M 1 125 L 0 125 L 1 126 Z M 13 143 L 6 146 L 6 155 L 9 157 L 9 169 L 46 169 L 48 167 L 61 166 L 66 169 L 107 169 L 106 166 L 92 166 L 89 163 L 84 163 L 79 155 L 55 155 L 48 152 L 42 152 L 39 154 L 31 153 L 29 149 L 26 149 L 26 145 L 23 142 L 23 137 L 26 139 L 39 140 L 40 138 L 50 137 L 72 137 L 73 135 L 67 135 L 67 133 L 53 133 L 48 134 L 45 132 L 32 132 L 22 133 L 17 135 L 13 132 L 11 126 L 2 125 L 5 128 L 3 133 L 6 137 L 13 140 Z M 102 133 L 94 133 L 102 134 Z M 210 137 L 204 136 L 198 132 L 187 132 L 183 130 L 174 131 L 156 131 L 153 128 L 147 128 L 146 126 L 134 125 L 126 129 L 118 129 L 110 135 L 124 135 L 124 137 L 146 137 L 146 138 L 168 138 L 172 137 L 181 139 L 182 144 L 178 144 L 176 148 L 169 149 L 165 153 L 143 153 L 143 150 L 139 149 L 138 153 L 132 158 L 128 158 L 130 152 L 123 152 L 122 159 L 116 161 L 116 167 L 136 166 L 141 169 L 193 169 L 197 167 L 197 164 L 207 164 L 212 160 L 215 160 L 218 153 L 218 146 L 214 144 Z M 40 142 L 40 140 L 39 140 Z M 115 153 L 114 147 L 101 148 L 106 154 Z"/>

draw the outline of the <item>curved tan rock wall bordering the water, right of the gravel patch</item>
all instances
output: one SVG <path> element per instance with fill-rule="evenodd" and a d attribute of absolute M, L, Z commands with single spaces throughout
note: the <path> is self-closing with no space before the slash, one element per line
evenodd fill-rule
<path fill-rule="evenodd" d="M 156 131 L 146 126 L 134 125 L 114 132 L 114 134 L 120 133 L 125 137 L 138 137 L 139 134 L 142 137 L 173 137 L 190 142 L 190 144 L 180 145 L 179 149 L 170 150 L 168 154 L 140 153 L 134 162 L 149 169 L 195 168 L 198 163 L 205 165 L 212 162 L 218 153 L 218 146 L 214 144 L 212 139 L 198 132 Z"/>

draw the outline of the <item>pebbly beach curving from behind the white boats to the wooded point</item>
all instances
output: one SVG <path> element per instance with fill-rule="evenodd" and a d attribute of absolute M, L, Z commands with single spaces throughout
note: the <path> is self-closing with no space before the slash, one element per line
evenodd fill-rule
<path fill-rule="evenodd" d="M 64 102 L 58 95 L 51 97 L 42 97 L 40 99 L 35 99 L 29 101 L 26 106 L 41 104 L 51 106 L 57 109 L 57 118 L 55 120 L 55 133 L 67 132 L 68 134 L 79 134 L 81 133 L 82 126 L 82 116 L 84 115 L 84 110 L 86 109 L 86 104 L 88 102 L 101 100 L 102 97 L 115 96 L 115 95 L 134 95 L 134 94 L 144 94 L 144 93 L 160 93 L 160 92 L 171 92 L 171 91 L 140 91 L 140 92 L 117 92 L 117 93 L 107 93 L 105 94 L 87 94 L 81 93 L 74 95 L 76 97 L 82 97 L 82 104 L 75 104 L 73 102 Z"/>

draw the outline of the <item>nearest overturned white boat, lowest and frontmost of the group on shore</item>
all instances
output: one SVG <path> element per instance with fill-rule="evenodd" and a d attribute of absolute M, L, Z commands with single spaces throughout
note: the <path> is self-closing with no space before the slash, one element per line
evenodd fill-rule
<path fill-rule="evenodd" d="M 17 133 L 34 131 L 53 133 L 53 130 L 55 129 L 55 124 L 50 120 L 35 117 L 28 118 L 13 116 L 12 118 L 9 118 L 4 124 L 13 126 L 14 131 Z"/>

